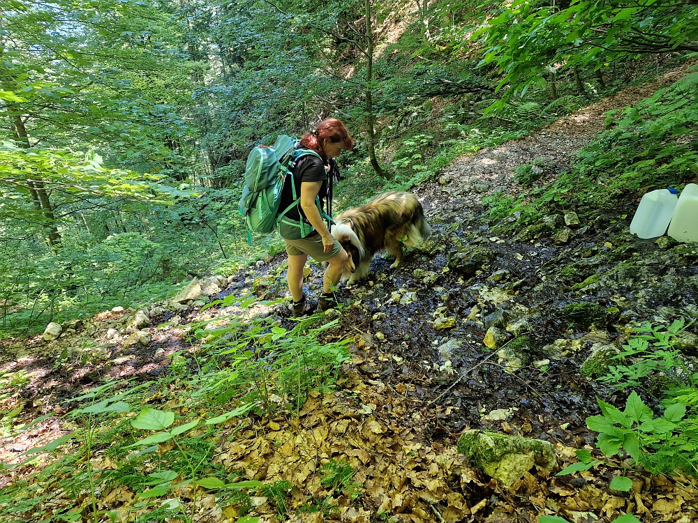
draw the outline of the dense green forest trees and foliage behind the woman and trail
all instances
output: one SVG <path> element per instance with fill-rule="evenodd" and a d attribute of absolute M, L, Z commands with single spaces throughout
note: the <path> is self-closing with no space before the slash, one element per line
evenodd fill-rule
<path fill-rule="evenodd" d="M 1 0 L 0 336 L 279 250 L 237 211 L 248 152 L 279 133 L 345 121 L 342 209 L 697 51 L 695 1 Z M 696 86 L 617 115 L 537 206 L 490 211 L 612 209 L 697 176 Z"/>

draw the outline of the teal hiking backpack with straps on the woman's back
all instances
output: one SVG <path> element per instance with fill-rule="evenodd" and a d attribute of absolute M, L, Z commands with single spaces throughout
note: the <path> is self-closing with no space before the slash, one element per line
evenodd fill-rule
<path fill-rule="evenodd" d="M 284 216 L 300 201 L 293 183 L 293 174 L 289 167 L 299 158 L 312 154 L 320 155 L 311 149 L 295 149 L 300 140 L 287 135 L 279 135 L 273 146 L 256 146 L 247 157 L 245 167 L 245 188 L 238 209 L 247 227 L 247 243 L 252 243 L 253 232 L 269 234 L 279 227 L 281 220 L 288 225 L 301 229 L 303 237 L 307 236 L 312 227 L 303 220 L 286 220 Z M 293 202 L 279 212 L 283 185 L 290 178 Z M 329 218 L 320 209 L 320 199 L 316 199 L 320 215 Z M 329 203 L 329 202 L 328 202 Z"/>

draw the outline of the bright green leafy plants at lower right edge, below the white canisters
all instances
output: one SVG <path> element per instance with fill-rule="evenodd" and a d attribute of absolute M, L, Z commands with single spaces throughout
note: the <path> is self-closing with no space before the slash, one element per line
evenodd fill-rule
<path fill-rule="evenodd" d="M 587 471 L 599 464 L 618 467 L 607 458 L 629 458 L 625 468 L 654 474 L 685 473 L 698 476 L 698 372 L 676 348 L 678 338 L 690 324 L 676 319 L 669 326 L 649 323 L 634 328 L 623 350 L 611 357 L 598 381 L 617 391 L 628 391 L 625 409 L 598 400 L 601 414 L 587 418 L 598 433 L 602 457 L 593 459 L 588 450 L 577 451 L 579 463 L 558 475 Z M 646 398 L 643 400 L 642 398 Z M 619 478 L 624 478 L 622 471 Z M 611 484 L 630 490 L 632 482 Z"/>

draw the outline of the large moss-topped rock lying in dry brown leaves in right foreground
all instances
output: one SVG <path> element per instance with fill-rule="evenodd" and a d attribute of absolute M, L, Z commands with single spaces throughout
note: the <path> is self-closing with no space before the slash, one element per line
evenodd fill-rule
<path fill-rule="evenodd" d="M 466 430 L 458 439 L 458 452 L 506 490 L 532 467 L 550 473 L 557 457 L 548 441 Z"/>

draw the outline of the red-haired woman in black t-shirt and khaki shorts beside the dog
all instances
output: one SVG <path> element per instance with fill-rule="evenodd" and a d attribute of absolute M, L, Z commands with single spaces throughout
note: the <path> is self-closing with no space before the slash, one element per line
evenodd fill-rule
<path fill-rule="evenodd" d="M 279 224 L 279 233 L 288 254 L 286 280 L 293 298 L 294 317 L 309 314 L 318 307 L 317 300 L 306 298 L 303 293 L 303 268 L 309 256 L 329 264 L 322 278 L 320 310 L 325 311 L 337 305 L 332 287 L 339 283 L 347 253 L 329 233 L 320 209 L 323 200 L 328 197 L 329 160 L 339 156 L 343 149 L 352 149 L 353 146 L 354 140 L 341 121 L 334 118 L 321 121 L 315 132 L 303 135 L 298 147 L 317 154 L 300 156 L 291 167 L 293 184 L 286 183 L 283 186 L 279 209 L 288 209 L 299 197 L 299 204 L 288 209 Z M 319 205 L 316 202 L 318 197 Z"/>

